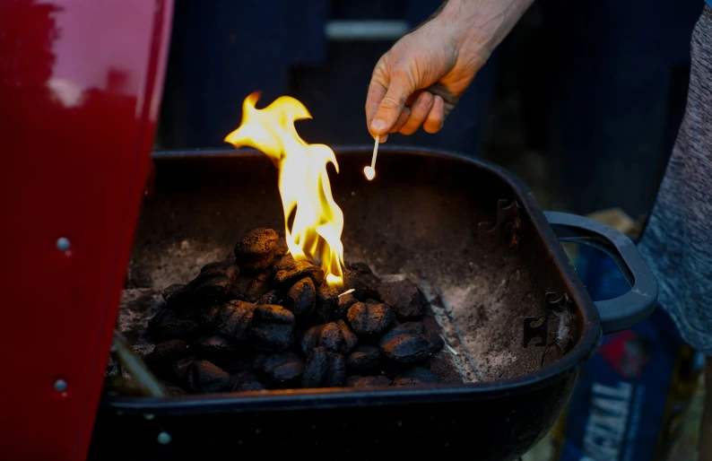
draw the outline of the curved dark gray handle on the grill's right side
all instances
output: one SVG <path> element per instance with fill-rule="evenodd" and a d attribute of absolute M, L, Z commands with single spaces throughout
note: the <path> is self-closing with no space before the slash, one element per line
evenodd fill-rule
<path fill-rule="evenodd" d="M 603 334 L 628 329 L 645 320 L 657 304 L 657 281 L 635 243 L 621 231 L 577 214 L 544 212 L 560 241 L 598 248 L 612 257 L 630 291 L 612 300 L 595 301 Z"/>

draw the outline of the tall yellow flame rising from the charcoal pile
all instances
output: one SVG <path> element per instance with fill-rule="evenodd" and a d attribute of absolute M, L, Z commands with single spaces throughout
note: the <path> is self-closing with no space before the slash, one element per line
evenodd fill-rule
<path fill-rule="evenodd" d="M 250 146 L 279 165 L 279 188 L 284 210 L 284 227 L 290 253 L 295 259 L 313 259 L 330 285 L 343 284 L 343 212 L 331 196 L 326 165 L 339 165 L 334 152 L 324 144 L 307 144 L 294 122 L 311 118 L 307 108 L 288 96 L 256 109 L 259 92 L 247 96 L 242 105 L 242 123 L 225 141 L 235 147 Z M 290 229 L 290 216 L 294 221 Z"/>

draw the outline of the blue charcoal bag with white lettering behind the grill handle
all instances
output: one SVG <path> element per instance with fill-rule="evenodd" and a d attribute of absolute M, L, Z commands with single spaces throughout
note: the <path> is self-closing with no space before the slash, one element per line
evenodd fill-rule
<path fill-rule="evenodd" d="M 581 247 L 575 266 L 594 300 L 629 290 L 612 259 Z M 555 461 L 658 461 L 668 452 L 704 361 L 664 309 L 603 336 L 553 431 Z"/>

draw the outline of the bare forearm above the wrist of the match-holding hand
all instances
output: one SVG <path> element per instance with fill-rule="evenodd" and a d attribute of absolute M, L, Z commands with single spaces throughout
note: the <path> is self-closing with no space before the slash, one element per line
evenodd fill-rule
<path fill-rule="evenodd" d="M 447 0 L 433 21 L 447 28 L 454 39 L 489 57 L 533 3 L 534 0 Z"/>

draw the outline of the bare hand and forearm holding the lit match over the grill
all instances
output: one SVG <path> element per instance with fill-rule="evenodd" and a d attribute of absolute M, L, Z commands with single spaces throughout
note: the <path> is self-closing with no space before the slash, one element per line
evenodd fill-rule
<path fill-rule="evenodd" d="M 437 133 L 533 0 L 449 0 L 378 60 L 366 99 L 369 133 Z"/>

